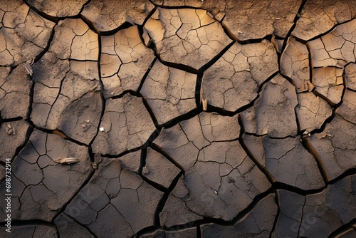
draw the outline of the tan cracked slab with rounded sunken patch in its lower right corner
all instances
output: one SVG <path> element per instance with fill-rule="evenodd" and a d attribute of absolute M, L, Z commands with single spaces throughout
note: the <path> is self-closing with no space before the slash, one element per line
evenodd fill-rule
<path fill-rule="evenodd" d="M 102 110 L 98 78 L 98 63 L 61 60 L 46 53 L 33 64 L 31 120 L 88 145 Z"/>

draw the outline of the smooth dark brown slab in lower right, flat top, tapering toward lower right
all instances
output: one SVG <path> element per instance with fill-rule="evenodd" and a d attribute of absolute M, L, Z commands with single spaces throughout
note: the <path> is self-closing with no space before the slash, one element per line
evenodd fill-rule
<path fill-rule="evenodd" d="M 273 180 L 302 190 L 325 185 L 318 164 L 298 138 L 272 139 L 244 135 L 244 143 Z"/>

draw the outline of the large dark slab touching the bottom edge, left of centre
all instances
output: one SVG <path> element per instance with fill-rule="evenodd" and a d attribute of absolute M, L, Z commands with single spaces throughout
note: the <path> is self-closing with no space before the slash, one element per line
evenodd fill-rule
<path fill-rule="evenodd" d="M 152 226 L 163 192 L 116 160 L 104 161 L 99 166 L 64 214 L 98 237 L 131 237 Z"/>

